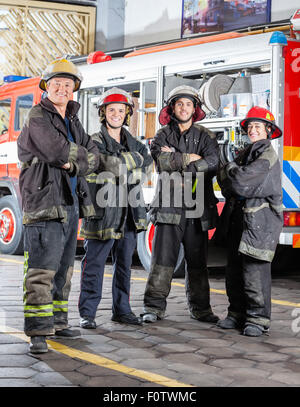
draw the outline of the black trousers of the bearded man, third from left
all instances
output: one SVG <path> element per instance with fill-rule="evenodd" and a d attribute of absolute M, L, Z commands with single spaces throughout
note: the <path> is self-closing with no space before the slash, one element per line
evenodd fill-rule
<path fill-rule="evenodd" d="M 151 270 L 144 294 L 144 312 L 163 318 L 178 260 L 180 244 L 186 261 L 185 287 L 193 318 L 212 314 L 207 270 L 208 233 L 199 219 L 181 217 L 179 225 L 158 223 L 155 228 Z"/>

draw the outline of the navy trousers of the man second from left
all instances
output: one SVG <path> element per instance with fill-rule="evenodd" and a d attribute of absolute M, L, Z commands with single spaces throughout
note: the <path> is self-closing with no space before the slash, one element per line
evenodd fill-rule
<path fill-rule="evenodd" d="M 104 268 L 112 254 L 112 313 L 131 312 L 129 304 L 132 256 L 136 247 L 136 229 L 127 222 L 121 239 L 86 239 L 85 256 L 81 262 L 81 285 L 78 302 L 81 317 L 94 319 L 102 298 Z"/>

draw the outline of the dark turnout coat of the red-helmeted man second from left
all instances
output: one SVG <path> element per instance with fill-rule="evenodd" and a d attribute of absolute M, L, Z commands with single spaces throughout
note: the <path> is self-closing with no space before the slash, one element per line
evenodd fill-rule
<path fill-rule="evenodd" d="M 85 239 L 121 239 L 128 210 L 132 211 L 136 230 L 146 230 L 142 182 L 143 173 L 151 169 L 152 164 L 147 147 L 124 127 L 121 129 L 121 144 L 116 142 L 104 124 L 92 139 L 98 147 L 101 168 L 99 174 L 90 174 L 86 179 L 96 215 L 82 222 L 80 236 Z M 124 172 L 120 172 L 122 165 Z M 130 198 L 133 202 L 128 205 Z"/>

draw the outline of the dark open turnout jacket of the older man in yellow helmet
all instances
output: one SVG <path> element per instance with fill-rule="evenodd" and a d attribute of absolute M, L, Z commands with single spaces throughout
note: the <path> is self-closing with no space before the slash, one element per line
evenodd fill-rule
<path fill-rule="evenodd" d="M 24 224 L 67 220 L 64 207 L 73 204 L 70 175 L 77 176 L 80 217 L 94 214 L 84 176 L 97 170 L 99 156 L 77 117 L 79 108 L 79 103 L 69 101 L 66 110 L 74 143 L 68 140 L 66 123 L 48 98 L 33 106 L 27 116 L 17 142 Z M 69 171 L 61 168 L 67 162 Z"/>

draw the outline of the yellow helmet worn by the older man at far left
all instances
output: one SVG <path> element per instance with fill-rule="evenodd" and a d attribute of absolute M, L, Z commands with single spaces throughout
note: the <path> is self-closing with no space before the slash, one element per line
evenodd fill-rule
<path fill-rule="evenodd" d="M 72 79 L 74 81 L 74 92 L 79 90 L 82 81 L 82 75 L 77 66 L 65 58 L 57 59 L 47 66 L 42 73 L 39 83 L 40 89 L 46 92 L 47 82 L 54 77 Z"/>

